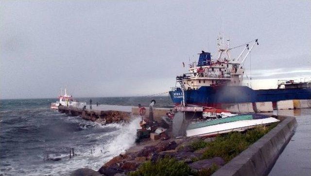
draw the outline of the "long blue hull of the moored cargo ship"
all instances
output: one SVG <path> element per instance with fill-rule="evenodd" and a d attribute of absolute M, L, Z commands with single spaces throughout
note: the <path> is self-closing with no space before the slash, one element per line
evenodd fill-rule
<path fill-rule="evenodd" d="M 253 90 L 247 86 L 202 86 L 197 90 L 185 90 L 184 92 L 186 104 L 210 107 L 219 107 L 218 105 L 223 103 L 311 99 L 310 88 Z M 170 91 L 169 94 L 175 105 L 182 102 L 183 95 L 180 88 Z"/>

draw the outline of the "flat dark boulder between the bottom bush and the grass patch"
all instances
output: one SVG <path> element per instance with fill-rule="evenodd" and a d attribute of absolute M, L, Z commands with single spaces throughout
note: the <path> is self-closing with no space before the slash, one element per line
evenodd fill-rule
<path fill-rule="evenodd" d="M 225 164 L 225 160 L 222 159 L 221 157 L 215 157 L 213 159 L 198 160 L 192 162 L 191 164 L 189 164 L 189 166 L 193 170 L 202 170 L 210 168 L 213 165 L 213 163 L 218 166 L 223 166 Z"/>

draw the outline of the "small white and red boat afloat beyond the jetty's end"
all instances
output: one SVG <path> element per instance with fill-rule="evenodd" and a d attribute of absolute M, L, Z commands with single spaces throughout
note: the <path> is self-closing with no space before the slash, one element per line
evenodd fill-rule
<path fill-rule="evenodd" d="M 83 107 L 86 106 L 86 102 L 79 102 L 77 100 L 74 100 L 73 97 L 67 93 L 67 89 L 65 88 L 65 94 L 58 96 L 59 101 L 56 101 L 55 103 L 51 103 L 52 109 L 58 109 L 60 105 L 62 106 L 74 106 L 74 107 Z"/>

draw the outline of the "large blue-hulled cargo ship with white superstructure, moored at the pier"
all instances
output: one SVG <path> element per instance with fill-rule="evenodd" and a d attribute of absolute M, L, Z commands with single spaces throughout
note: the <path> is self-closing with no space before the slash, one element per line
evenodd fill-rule
<path fill-rule="evenodd" d="M 282 100 L 310 100 L 311 81 L 295 82 L 279 80 L 276 89 L 254 90 L 243 85 L 245 69 L 242 64 L 259 45 L 258 39 L 230 48 L 226 41 L 218 35 L 218 53 L 216 59 L 209 52 L 199 53 L 198 62 L 189 64 L 187 73 L 176 77 L 176 86 L 169 91 L 176 106 L 204 106 L 226 109 L 224 105 L 237 103 L 272 102 Z M 231 57 L 231 50 L 243 47 L 238 57 Z M 263 82 L 264 83 L 264 82 Z"/>

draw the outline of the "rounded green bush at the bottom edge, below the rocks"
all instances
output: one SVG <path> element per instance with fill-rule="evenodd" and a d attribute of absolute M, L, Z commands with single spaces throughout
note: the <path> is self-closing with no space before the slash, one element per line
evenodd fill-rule
<path fill-rule="evenodd" d="M 130 176 L 189 176 L 193 174 L 191 168 L 184 162 L 173 158 L 163 158 L 155 163 L 146 161 L 137 171 L 130 172 Z"/>

